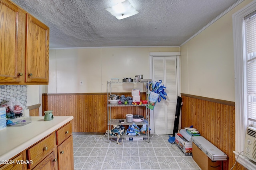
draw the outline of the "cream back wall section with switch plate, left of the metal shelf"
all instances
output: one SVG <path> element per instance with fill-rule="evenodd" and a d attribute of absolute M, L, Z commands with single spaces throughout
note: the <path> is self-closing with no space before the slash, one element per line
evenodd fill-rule
<path fill-rule="evenodd" d="M 50 50 L 48 93 L 100 92 L 95 82 L 101 82 L 100 48 Z"/>

